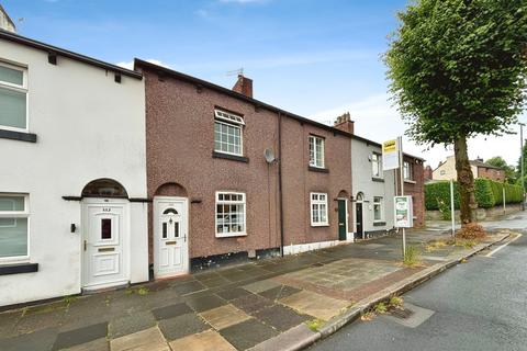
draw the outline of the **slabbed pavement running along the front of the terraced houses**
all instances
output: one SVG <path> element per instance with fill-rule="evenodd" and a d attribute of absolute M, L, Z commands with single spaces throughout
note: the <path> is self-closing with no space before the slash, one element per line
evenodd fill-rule
<path fill-rule="evenodd" d="M 7 310 L 0 350 L 300 349 L 507 235 L 466 248 L 431 246 L 448 238 L 436 228 L 411 231 L 423 251 L 413 268 L 391 236 Z"/>

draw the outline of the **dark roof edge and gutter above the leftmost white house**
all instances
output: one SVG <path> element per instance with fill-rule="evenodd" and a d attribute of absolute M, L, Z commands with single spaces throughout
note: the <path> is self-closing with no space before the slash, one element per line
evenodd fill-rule
<path fill-rule="evenodd" d="M 40 50 L 43 50 L 43 52 L 47 52 L 49 54 L 55 54 L 57 56 L 67 57 L 67 58 L 70 58 L 70 59 L 74 59 L 74 60 L 77 60 L 77 61 L 80 61 L 80 63 L 83 63 L 83 64 L 87 64 L 87 65 L 91 65 L 91 66 L 96 66 L 96 67 L 99 67 L 99 68 L 108 69 L 108 70 L 111 70 L 113 72 L 121 73 L 123 76 L 127 76 L 127 77 L 132 77 L 132 78 L 136 78 L 136 79 L 143 79 L 143 75 L 141 75 L 136 71 L 133 71 L 133 70 L 130 70 L 130 69 L 126 69 L 126 68 L 123 68 L 123 67 L 119 67 L 116 65 L 108 64 L 108 63 L 101 61 L 99 59 L 91 58 L 91 57 L 88 57 L 88 56 L 85 56 L 85 55 L 80 55 L 80 54 L 64 49 L 64 48 L 59 48 L 59 47 L 56 47 L 56 46 L 44 44 L 42 42 L 30 39 L 25 36 L 22 36 L 22 35 L 15 34 L 15 33 L 11 33 L 11 32 L 8 32 L 8 31 L 0 30 L 0 39 L 4 39 L 4 41 L 12 42 L 12 43 L 30 46 L 30 47 L 33 47 L 33 48 L 36 48 L 36 49 L 40 49 Z"/>

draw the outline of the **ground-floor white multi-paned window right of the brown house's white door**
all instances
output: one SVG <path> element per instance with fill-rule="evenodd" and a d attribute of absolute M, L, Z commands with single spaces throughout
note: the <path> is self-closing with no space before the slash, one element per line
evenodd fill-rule
<path fill-rule="evenodd" d="M 245 193 L 216 192 L 216 237 L 247 235 Z"/>

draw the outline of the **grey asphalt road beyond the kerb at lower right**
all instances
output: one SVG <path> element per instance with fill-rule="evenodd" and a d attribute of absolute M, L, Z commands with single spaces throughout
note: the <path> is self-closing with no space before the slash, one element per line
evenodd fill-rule
<path fill-rule="evenodd" d="M 523 229 L 527 216 L 485 227 Z M 507 244 L 408 292 L 405 303 L 433 313 L 421 325 L 377 316 L 343 328 L 310 350 L 527 350 L 527 231 Z"/>

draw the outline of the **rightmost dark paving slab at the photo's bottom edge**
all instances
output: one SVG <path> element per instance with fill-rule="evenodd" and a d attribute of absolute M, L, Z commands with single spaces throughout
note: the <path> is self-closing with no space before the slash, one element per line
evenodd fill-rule
<path fill-rule="evenodd" d="M 222 329 L 220 333 L 236 349 L 247 350 L 264 340 L 276 337 L 278 331 L 253 318 Z"/>

